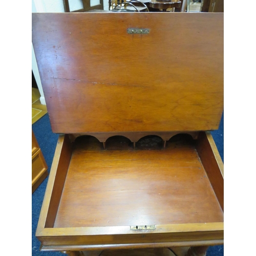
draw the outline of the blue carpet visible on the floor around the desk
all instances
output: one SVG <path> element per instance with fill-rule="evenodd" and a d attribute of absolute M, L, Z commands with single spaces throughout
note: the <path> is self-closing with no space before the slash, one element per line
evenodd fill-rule
<path fill-rule="evenodd" d="M 50 172 L 58 135 L 52 133 L 49 115 L 46 114 L 32 125 L 37 142 L 45 157 Z M 222 160 L 224 160 L 224 115 L 222 116 L 219 130 L 211 132 Z M 40 215 L 42 200 L 44 199 L 48 177 L 42 182 L 32 195 L 32 256 L 64 255 L 60 252 L 40 251 L 40 242 L 35 237 L 37 222 Z M 207 256 L 223 256 L 224 246 L 211 246 L 207 250 Z M 120 255 L 121 256 L 121 255 Z"/>

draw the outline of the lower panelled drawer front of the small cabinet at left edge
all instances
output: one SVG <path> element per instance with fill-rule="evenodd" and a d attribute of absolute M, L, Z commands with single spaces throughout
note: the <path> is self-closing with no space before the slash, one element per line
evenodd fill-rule
<path fill-rule="evenodd" d="M 46 161 L 41 150 L 38 149 L 34 155 L 32 155 L 32 193 L 47 175 Z"/>

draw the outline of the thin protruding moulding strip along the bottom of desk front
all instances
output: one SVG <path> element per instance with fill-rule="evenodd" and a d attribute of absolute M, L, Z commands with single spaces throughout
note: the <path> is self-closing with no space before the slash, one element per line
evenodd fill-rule
<path fill-rule="evenodd" d="M 138 243 L 138 244 L 108 244 L 108 245 L 42 245 L 41 251 L 80 251 L 80 250 L 107 250 L 107 249 L 141 249 L 141 248 L 160 248 L 160 247 L 185 247 L 185 246 L 204 246 L 221 245 L 223 240 L 206 241 L 185 241 L 185 242 L 166 242 L 166 243 Z"/>

